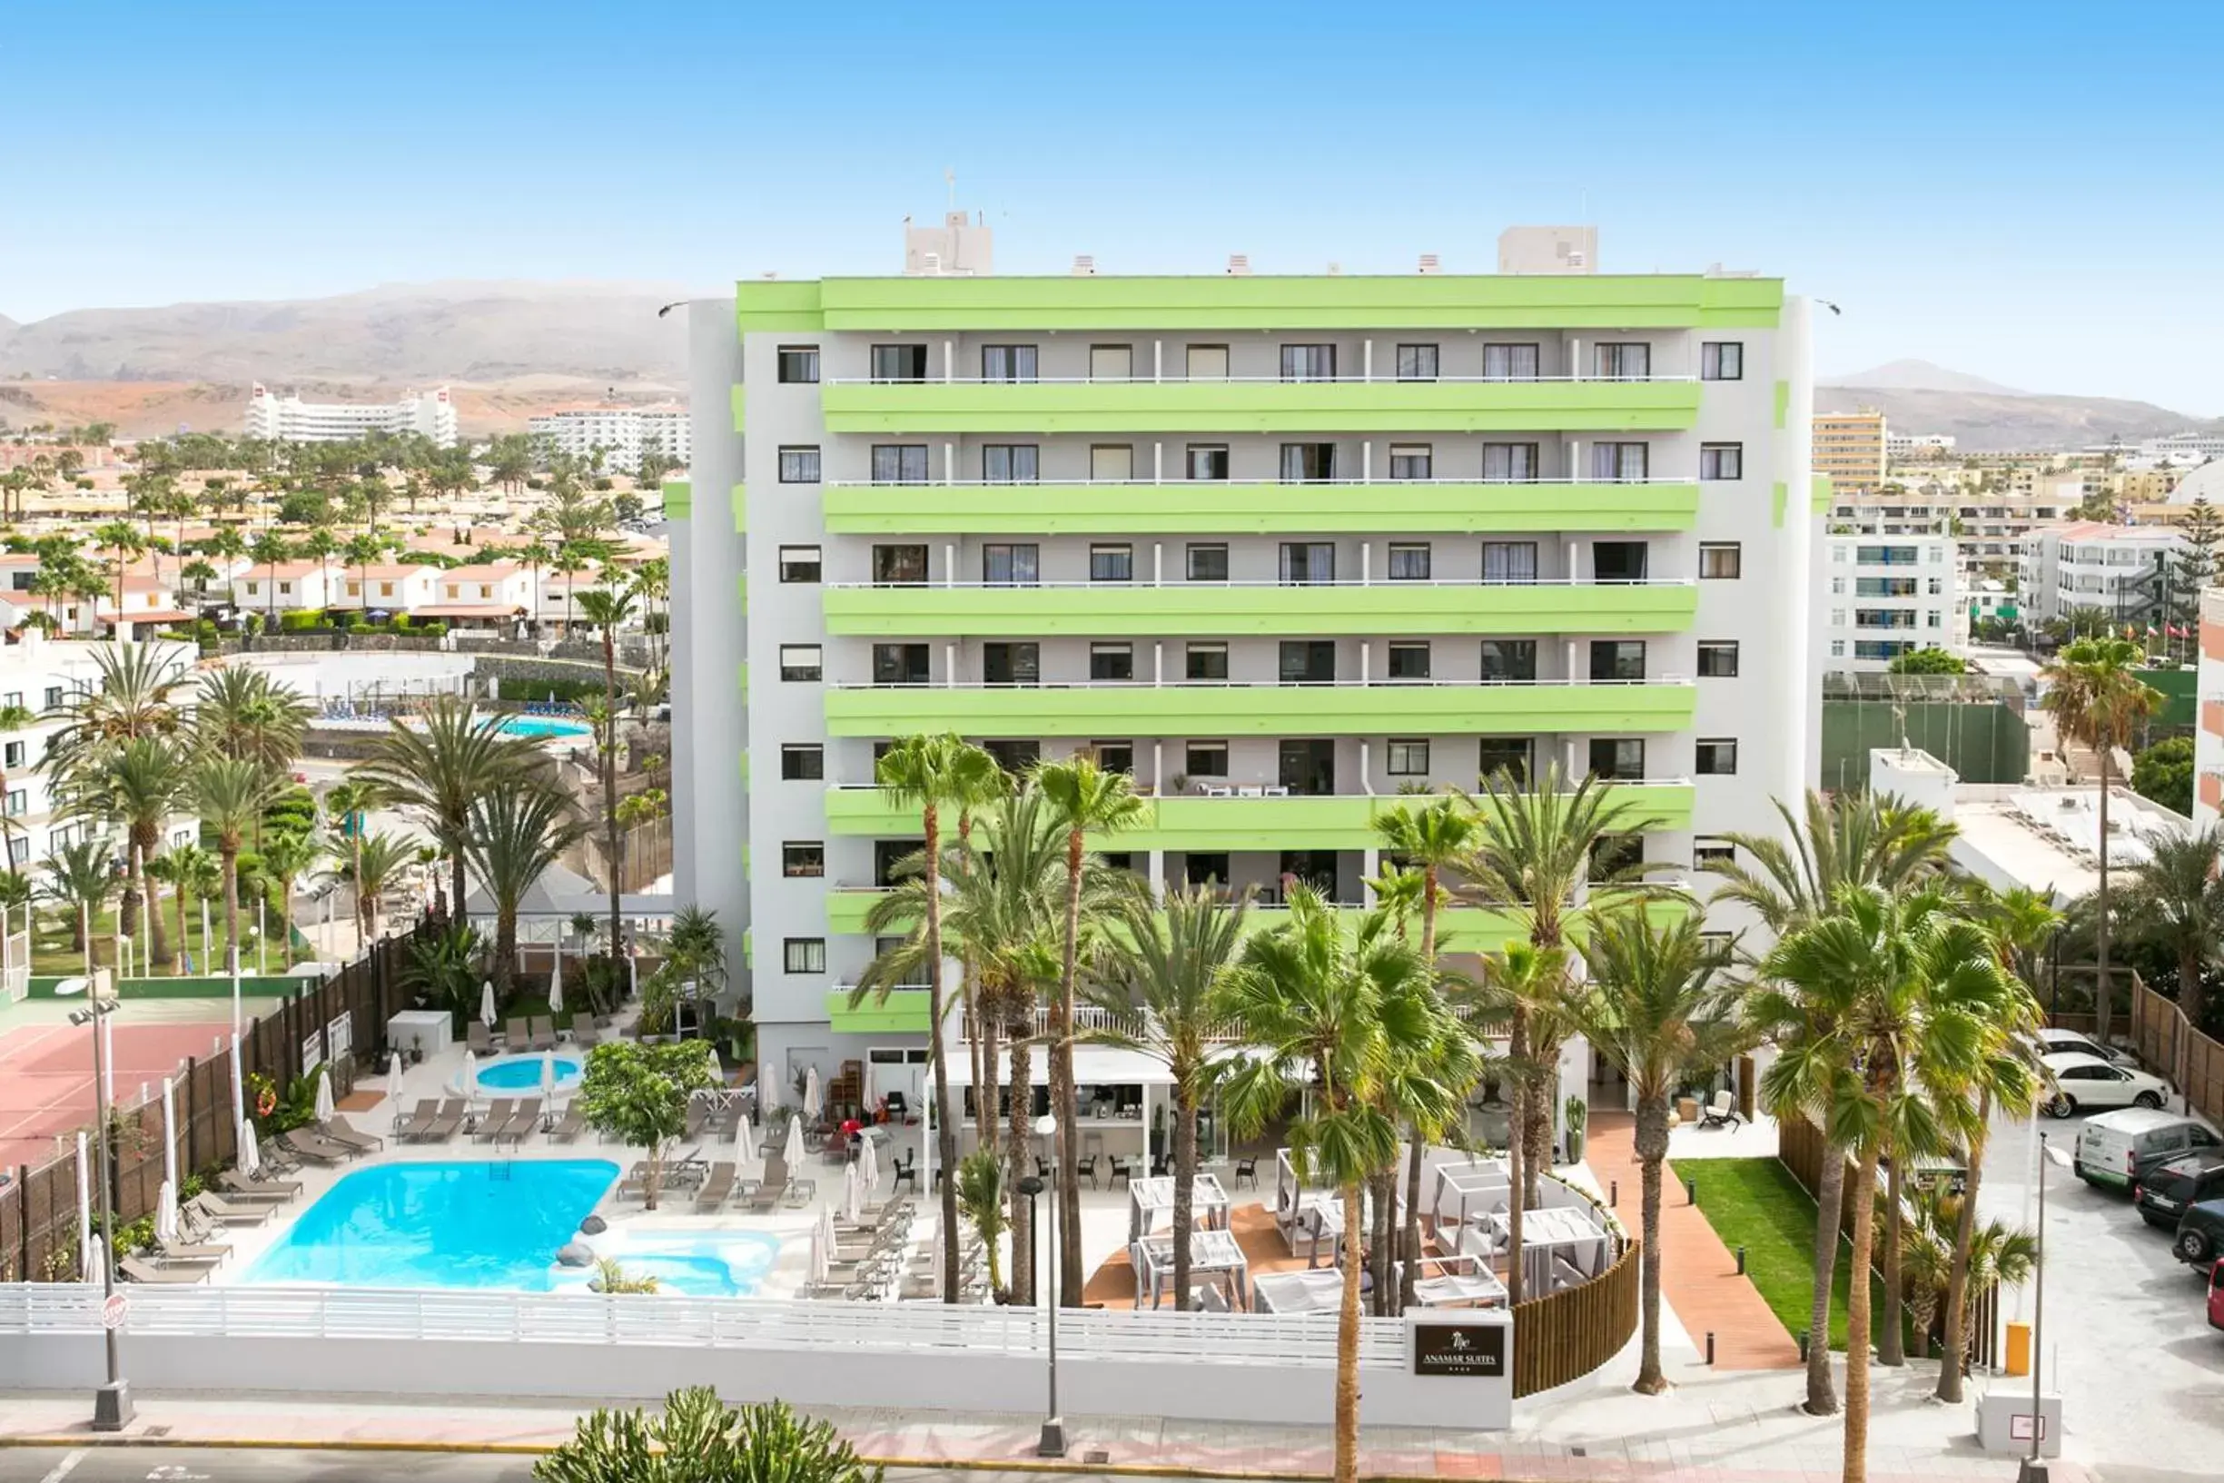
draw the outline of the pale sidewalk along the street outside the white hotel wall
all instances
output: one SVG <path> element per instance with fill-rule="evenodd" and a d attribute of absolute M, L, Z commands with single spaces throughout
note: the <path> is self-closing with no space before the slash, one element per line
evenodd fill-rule
<path fill-rule="evenodd" d="M 1839 1419 L 1806 1416 L 1797 1374 L 1724 1374 L 1672 1365 L 1677 1390 L 1626 1390 L 1635 1354 L 1588 1383 L 1517 1405 L 1510 1432 L 1370 1427 L 1361 1472 L 1374 1479 L 1503 1479 L 1550 1483 L 1833 1483 Z M 1875 1483 L 2006 1481 L 2015 1459 L 1975 1447 L 1973 1410 L 1928 1405 L 1924 1365 L 1875 1372 L 1877 1412 L 1868 1476 Z M 572 1434 L 587 1407 L 547 1401 L 365 1403 L 345 1396 L 138 1396 L 122 1443 L 282 1445 L 360 1450 L 538 1452 Z M 89 1394 L 0 1396 L 0 1445 L 87 1445 Z M 1039 1465 L 1036 1414 L 927 1414 L 881 1407 L 818 1412 L 872 1461 L 887 1465 L 1019 1470 Z M 1183 1423 L 1148 1416 L 1068 1421 L 1070 1461 L 1056 1472 L 1308 1479 L 1330 1472 L 1332 1434 L 1319 1427 Z M 2071 1461 L 2059 1483 L 2088 1483 Z"/>

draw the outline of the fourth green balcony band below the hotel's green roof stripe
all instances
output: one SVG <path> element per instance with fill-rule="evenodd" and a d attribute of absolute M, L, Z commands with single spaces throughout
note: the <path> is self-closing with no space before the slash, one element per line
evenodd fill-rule
<path fill-rule="evenodd" d="M 1686 678 L 1528 685 L 832 685 L 827 736 L 1479 736 L 1681 731 Z"/>

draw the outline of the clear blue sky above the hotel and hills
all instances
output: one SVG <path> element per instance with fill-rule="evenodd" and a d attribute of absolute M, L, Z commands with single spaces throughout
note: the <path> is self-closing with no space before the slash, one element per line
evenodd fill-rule
<path fill-rule="evenodd" d="M 2213 4 L 69 0 L 0 7 L 0 313 L 429 278 L 1781 273 L 1817 369 L 2224 414 Z"/>

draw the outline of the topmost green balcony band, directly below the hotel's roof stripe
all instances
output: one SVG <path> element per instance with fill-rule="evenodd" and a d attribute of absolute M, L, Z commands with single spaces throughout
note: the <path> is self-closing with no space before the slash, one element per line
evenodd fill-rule
<path fill-rule="evenodd" d="M 830 434 L 1686 431 L 1699 382 L 830 380 Z"/>

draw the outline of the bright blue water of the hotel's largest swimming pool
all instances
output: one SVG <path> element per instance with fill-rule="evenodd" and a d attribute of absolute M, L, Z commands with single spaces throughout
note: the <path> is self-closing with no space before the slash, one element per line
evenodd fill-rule
<path fill-rule="evenodd" d="M 556 1250 L 576 1238 L 616 1178 L 607 1158 L 356 1170 L 305 1210 L 245 1281 L 547 1292 Z"/>

